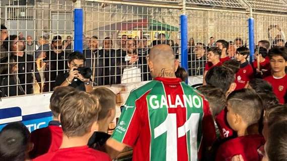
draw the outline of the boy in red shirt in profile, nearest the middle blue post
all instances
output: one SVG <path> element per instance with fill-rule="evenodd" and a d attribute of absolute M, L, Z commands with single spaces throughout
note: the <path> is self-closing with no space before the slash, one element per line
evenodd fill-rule
<path fill-rule="evenodd" d="M 206 76 L 207 71 L 214 66 L 222 65 L 222 62 L 220 61 L 220 57 L 221 57 L 221 49 L 219 47 L 211 47 L 208 49 L 207 62 L 205 64 L 204 74 L 203 74 L 203 85 L 206 85 L 205 76 Z"/>

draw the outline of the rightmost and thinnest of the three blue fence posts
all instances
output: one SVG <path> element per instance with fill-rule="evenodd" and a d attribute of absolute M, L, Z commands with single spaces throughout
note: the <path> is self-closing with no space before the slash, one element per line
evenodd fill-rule
<path fill-rule="evenodd" d="M 250 63 L 254 61 L 254 19 L 248 19 L 248 35 L 249 35 L 249 49 L 250 49 Z"/>

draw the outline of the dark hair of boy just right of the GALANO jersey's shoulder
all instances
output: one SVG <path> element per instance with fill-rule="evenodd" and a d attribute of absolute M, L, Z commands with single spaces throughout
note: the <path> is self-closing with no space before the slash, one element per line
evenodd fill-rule
<path fill-rule="evenodd" d="M 207 85 L 220 88 L 225 94 L 229 90 L 230 85 L 234 83 L 235 76 L 230 68 L 223 66 L 215 66 L 209 69 L 205 76 Z"/>

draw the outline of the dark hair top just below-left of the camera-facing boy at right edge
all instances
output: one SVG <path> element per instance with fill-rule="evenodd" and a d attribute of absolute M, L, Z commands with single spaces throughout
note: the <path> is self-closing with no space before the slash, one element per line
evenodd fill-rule
<path fill-rule="evenodd" d="M 253 78 L 249 81 L 249 86 L 255 90 L 257 93 L 272 93 L 272 86 L 264 79 Z"/>

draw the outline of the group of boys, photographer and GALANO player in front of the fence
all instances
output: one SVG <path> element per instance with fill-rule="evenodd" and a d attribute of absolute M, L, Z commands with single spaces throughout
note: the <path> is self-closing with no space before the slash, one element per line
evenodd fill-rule
<path fill-rule="evenodd" d="M 209 48 L 204 85 L 195 89 L 183 82 L 187 71 L 173 49 L 155 45 L 146 59 L 153 81 L 129 94 L 112 135 L 116 94 L 68 86 L 79 74 L 70 70 L 73 76 L 61 78 L 67 84 L 50 98 L 49 126 L 30 133 L 21 122 L 9 123 L 0 132 L 0 158 L 111 160 L 132 147 L 133 160 L 287 160 L 287 48 L 264 49 L 256 58 L 260 65 L 267 50 L 270 71 L 257 68 L 254 74 L 247 47 L 224 62 L 220 47 Z M 69 67 L 84 60 L 73 52 Z"/>

